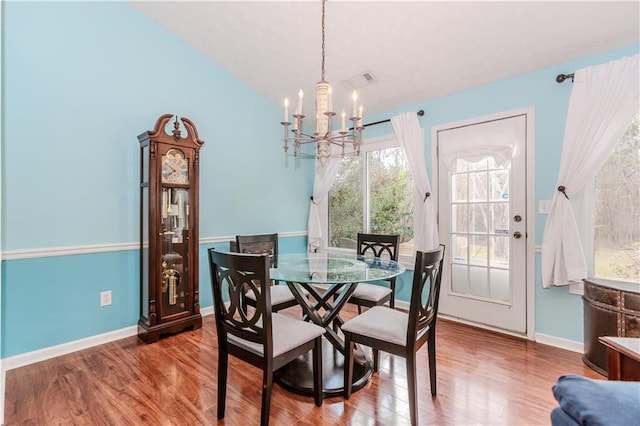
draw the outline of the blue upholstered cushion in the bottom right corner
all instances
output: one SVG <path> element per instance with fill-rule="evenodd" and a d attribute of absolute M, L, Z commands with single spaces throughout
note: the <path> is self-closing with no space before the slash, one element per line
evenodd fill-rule
<path fill-rule="evenodd" d="M 578 424 L 640 424 L 640 382 L 566 375 L 552 390 L 560 408 Z"/>

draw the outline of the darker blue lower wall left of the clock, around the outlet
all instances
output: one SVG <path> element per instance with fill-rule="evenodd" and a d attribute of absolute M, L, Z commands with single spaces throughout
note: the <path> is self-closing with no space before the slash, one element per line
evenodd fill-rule
<path fill-rule="evenodd" d="M 139 271 L 135 250 L 3 261 L 2 358 L 135 325 Z"/>

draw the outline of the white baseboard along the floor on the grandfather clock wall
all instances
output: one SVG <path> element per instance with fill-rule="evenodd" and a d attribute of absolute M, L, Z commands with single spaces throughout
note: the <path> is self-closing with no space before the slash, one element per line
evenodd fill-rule
<path fill-rule="evenodd" d="M 200 315 L 202 315 L 203 317 L 206 317 L 207 315 L 213 315 L 213 306 L 202 308 L 200 310 Z M 2 375 L 4 378 L 5 372 L 13 370 L 14 368 L 24 367 L 29 364 L 34 364 L 36 362 L 45 361 L 57 356 L 81 351 L 93 346 L 103 345 L 115 340 L 136 336 L 137 334 L 138 326 L 132 325 L 130 327 L 121 328 L 119 330 L 109 331 L 107 333 L 86 337 L 84 339 L 74 340 L 72 342 L 62 343 L 60 345 L 49 346 L 44 349 L 38 349 L 36 351 L 15 355 L 10 358 L 4 358 L 3 360 L 0 360 Z"/>

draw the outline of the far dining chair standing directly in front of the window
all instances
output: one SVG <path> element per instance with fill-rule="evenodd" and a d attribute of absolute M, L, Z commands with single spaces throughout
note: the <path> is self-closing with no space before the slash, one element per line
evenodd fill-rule
<path fill-rule="evenodd" d="M 399 235 L 362 234 L 358 233 L 356 242 L 357 253 L 364 257 L 382 257 L 390 260 L 398 260 Z M 359 283 L 349 301 L 358 306 L 358 313 L 362 313 L 362 307 L 384 305 L 389 302 L 391 309 L 395 308 L 396 277 L 386 280 L 386 285 Z"/>

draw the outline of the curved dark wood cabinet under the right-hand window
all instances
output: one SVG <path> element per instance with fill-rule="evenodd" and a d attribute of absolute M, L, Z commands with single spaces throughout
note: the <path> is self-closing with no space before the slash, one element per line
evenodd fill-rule
<path fill-rule="evenodd" d="M 607 348 L 600 337 L 640 337 L 640 287 L 603 279 L 584 281 L 585 364 L 607 375 Z"/>

